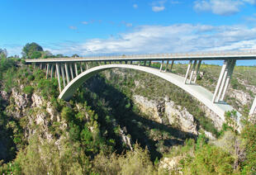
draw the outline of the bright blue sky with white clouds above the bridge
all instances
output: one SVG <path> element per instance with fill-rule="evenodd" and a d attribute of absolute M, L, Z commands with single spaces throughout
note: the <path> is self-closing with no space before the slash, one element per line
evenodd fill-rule
<path fill-rule="evenodd" d="M 256 50 L 256 0 L 2 0 L 0 48 L 53 54 Z"/>

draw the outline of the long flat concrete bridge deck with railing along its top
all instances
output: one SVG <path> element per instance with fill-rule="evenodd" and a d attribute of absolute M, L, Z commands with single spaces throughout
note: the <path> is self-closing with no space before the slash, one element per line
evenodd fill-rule
<path fill-rule="evenodd" d="M 183 54 L 137 54 L 111 55 L 77 58 L 26 59 L 26 63 L 61 63 L 91 61 L 142 61 L 142 60 L 224 60 L 224 59 L 256 59 L 256 51 L 216 52 L 216 53 L 183 53 Z"/>

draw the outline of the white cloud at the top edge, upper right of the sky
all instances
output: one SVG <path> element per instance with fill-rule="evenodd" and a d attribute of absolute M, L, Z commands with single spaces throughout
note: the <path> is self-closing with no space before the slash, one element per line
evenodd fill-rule
<path fill-rule="evenodd" d="M 243 4 L 240 0 L 197 0 L 194 2 L 194 9 L 197 12 L 212 12 L 217 15 L 230 16 L 239 12 L 239 7 Z"/>

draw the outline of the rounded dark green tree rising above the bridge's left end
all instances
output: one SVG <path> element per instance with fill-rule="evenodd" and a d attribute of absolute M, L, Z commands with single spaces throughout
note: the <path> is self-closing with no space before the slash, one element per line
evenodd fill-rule
<path fill-rule="evenodd" d="M 23 55 L 23 57 L 25 57 L 26 59 L 31 59 L 31 56 L 34 54 L 34 52 L 42 52 L 44 51 L 43 48 L 36 44 L 35 42 L 32 43 L 27 43 L 23 49 L 21 54 Z M 37 53 L 36 56 L 38 56 L 39 54 Z M 35 54 L 34 54 L 35 56 Z M 38 58 L 36 58 L 38 59 Z"/>

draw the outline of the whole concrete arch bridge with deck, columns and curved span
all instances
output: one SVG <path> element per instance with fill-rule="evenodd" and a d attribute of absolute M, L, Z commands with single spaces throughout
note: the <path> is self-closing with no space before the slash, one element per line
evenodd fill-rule
<path fill-rule="evenodd" d="M 40 69 L 45 69 L 46 78 L 53 78 L 55 75 L 59 82 L 59 98 L 66 101 L 73 97 L 73 93 L 88 78 L 92 77 L 95 73 L 107 69 L 135 69 L 151 73 L 175 84 L 179 88 L 183 88 L 184 91 L 197 98 L 199 102 L 203 103 L 217 116 L 220 116 L 221 120 L 225 121 L 225 111 L 234 110 L 232 106 L 224 102 L 225 93 L 228 90 L 236 60 L 245 59 L 256 59 L 256 52 L 250 50 L 229 53 L 140 54 L 86 58 L 26 59 L 26 63 L 40 66 Z M 185 77 L 172 73 L 174 62 L 181 60 L 189 61 Z M 214 93 L 197 85 L 197 74 L 200 70 L 201 61 L 204 60 L 223 60 Z M 152 61 L 158 61 L 160 68 L 155 69 L 151 67 Z M 89 68 L 89 63 L 96 63 L 97 65 Z M 163 69 L 164 66 L 165 69 Z M 62 83 L 64 88 L 61 86 Z M 256 97 L 249 114 L 253 115 L 255 112 Z M 241 116 L 239 112 L 238 116 Z"/>

